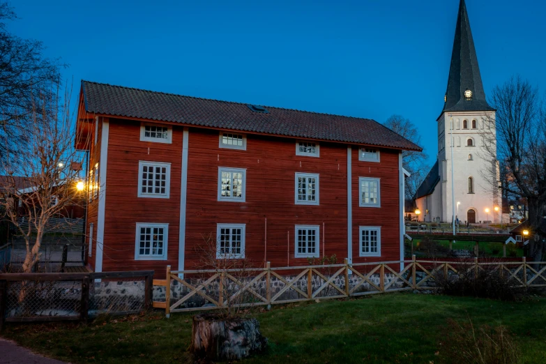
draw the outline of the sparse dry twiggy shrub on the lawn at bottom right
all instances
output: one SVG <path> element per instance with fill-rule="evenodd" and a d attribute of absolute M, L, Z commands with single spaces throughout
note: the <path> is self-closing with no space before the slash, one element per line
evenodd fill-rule
<path fill-rule="evenodd" d="M 446 342 L 446 356 L 453 363 L 463 364 L 520 364 L 523 363 L 517 341 L 505 326 L 459 324 L 450 319 Z"/>

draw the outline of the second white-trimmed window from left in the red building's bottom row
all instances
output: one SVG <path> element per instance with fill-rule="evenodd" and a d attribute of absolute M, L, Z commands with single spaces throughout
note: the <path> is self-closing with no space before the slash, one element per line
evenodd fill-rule
<path fill-rule="evenodd" d="M 243 259 L 245 257 L 245 224 L 216 225 L 216 258 Z"/>

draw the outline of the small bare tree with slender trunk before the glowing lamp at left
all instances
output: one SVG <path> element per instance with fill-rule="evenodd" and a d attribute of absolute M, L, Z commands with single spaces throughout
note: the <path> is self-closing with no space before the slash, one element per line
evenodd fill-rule
<path fill-rule="evenodd" d="M 54 84 L 56 86 L 56 84 Z M 4 175 L 0 186 L 1 218 L 8 220 L 24 238 L 26 255 L 22 271 L 30 272 L 40 261 L 40 247 L 53 218 L 63 217 L 66 208 L 82 202 L 84 183 L 80 170 L 83 155 L 75 150 L 71 128 L 70 91 L 59 97 L 58 89 L 43 90 L 26 113 L 24 149 L 0 162 Z M 17 121 L 17 119 L 15 119 Z M 20 126 L 22 128 L 22 126 Z"/>

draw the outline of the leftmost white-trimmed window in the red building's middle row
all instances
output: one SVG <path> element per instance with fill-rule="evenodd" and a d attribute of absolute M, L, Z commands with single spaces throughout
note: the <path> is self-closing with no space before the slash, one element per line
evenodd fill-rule
<path fill-rule="evenodd" d="M 171 164 L 164 162 L 138 162 L 138 197 L 169 198 Z"/>

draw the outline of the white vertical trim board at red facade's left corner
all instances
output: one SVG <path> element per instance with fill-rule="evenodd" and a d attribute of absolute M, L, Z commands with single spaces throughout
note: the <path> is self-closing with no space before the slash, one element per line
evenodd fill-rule
<path fill-rule="evenodd" d="M 97 216 L 97 248 L 95 256 L 95 271 L 103 271 L 103 248 L 105 238 L 105 211 L 106 211 L 106 164 L 108 161 L 108 121 L 103 120 L 103 132 L 100 137 L 100 161 L 99 161 L 99 194 Z"/>

